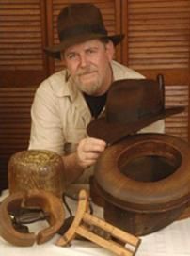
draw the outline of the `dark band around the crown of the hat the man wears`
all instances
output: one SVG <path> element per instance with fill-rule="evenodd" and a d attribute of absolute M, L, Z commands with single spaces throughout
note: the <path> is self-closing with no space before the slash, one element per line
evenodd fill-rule
<path fill-rule="evenodd" d="M 99 24 L 92 24 L 92 25 L 79 25 L 64 29 L 59 31 L 59 40 L 66 40 L 68 38 L 73 38 L 77 36 L 87 35 L 87 34 L 97 34 L 107 36 L 107 31 L 104 29 L 103 26 Z"/>

